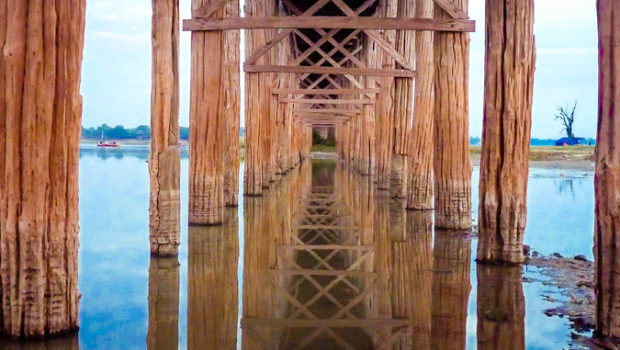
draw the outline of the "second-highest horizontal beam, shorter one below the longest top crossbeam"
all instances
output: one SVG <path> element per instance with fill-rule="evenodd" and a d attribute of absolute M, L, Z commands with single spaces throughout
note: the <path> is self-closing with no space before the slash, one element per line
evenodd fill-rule
<path fill-rule="evenodd" d="M 310 74 L 348 74 L 372 77 L 409 77 L 415 78 L 416 72 L 404 69 L 344 68 L 344 67 L 311 67 L 311 66 L 254 66 L 244 65 L 246 73 L 310 73 Z"/>

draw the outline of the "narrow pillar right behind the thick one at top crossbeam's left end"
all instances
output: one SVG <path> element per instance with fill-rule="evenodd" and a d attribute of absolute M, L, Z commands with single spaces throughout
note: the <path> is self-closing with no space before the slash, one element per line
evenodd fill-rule
<path fill-rule="evenodd" d="M 223 6 L 224 17 L 239 17 L 239 2 L 227 1 Z M 229 207 L 239 204 L 239 132 L 241 127 L 241 73 L 240 31 L 226 30 L 222 33 L 224 57 L 222 71 L 222 90 L 224 101 L 221 104 L 224 116 L 224 201 Z"/>

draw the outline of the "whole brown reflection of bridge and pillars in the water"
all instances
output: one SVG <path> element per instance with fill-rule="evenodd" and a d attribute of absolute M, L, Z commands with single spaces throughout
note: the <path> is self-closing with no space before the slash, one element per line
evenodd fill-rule
<path fill-rule="evenodd" d="M 223 226 L 190 226 L 188 349 L 464 349 L 470 239 L 434 234 L 432 212 L 406 211 L 371 181 L 306 162 L 246 197 L 243 260 L 237 210 Z M 149 349 L 178 342 L 176 261 L 151 261 Z M 520 275 L 478 272 L 479 348 L 524 348 Z"/>

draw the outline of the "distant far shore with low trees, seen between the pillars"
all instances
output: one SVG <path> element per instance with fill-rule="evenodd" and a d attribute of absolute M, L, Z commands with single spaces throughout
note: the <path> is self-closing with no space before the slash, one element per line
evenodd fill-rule
<path fill-rule="evenodd" d="M 130 146 L 148 146 L 150 140 L 109 140 L 120 141 L 123 145 Z M 241 148 L 243 149 L 245 138 L 241 138 Z M 97 139 L 82 139 L 83 145 L 95 145 L 99 142 Z M 322 159 L 333 158 L 328 157 L 325 153 L 335 152 L 334 148 L 317 149 Z M 471 146 L 471 160 L 474 166 L 480 165 L 480 146 Z M 573 170 L 594 170 L 594 146 L 569 146 L 569 147 L 553 147 L 553 146 L 532 146 L 530 149 L 530 167 L 531 168 L 551 168 L 551 169 L 573 169 Z"/>

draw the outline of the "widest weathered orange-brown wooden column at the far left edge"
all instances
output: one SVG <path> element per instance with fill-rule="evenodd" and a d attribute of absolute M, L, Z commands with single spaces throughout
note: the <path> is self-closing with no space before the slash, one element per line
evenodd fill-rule
<path fill-rule="evenodd" d="M 1 332 L 78 327 L 84 0 L 0 3 Z"/>

